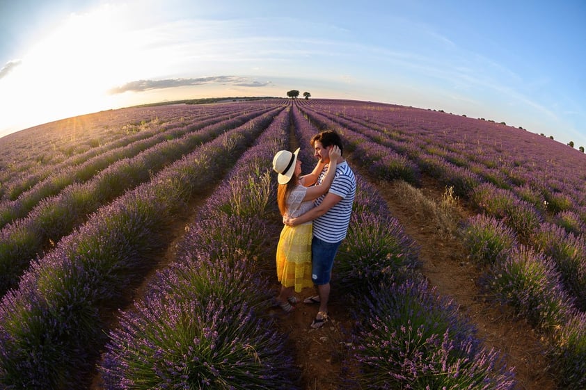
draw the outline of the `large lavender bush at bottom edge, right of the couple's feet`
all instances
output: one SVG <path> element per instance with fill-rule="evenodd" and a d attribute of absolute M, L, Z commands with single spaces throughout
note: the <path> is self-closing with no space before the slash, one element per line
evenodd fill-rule
<path fill-rule="evenodd" d="M 425 280 L 373 286 L 351 359 L 363 389 L 513 389 L 514 374 L 475 338 L 458 307 Z"/>

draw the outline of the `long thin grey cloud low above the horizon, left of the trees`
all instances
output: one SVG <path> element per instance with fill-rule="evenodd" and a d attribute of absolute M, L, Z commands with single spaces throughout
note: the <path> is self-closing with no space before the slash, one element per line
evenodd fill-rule
<path fill-rule="evenodd" d="M 196 79 L 164 79 L 164 80 L 137 80 L 125 83 L 123 86 L 112 88 L 109 92 L 111 95 L 124 93 L 128 91 L 143 92 L 145 90 L 156 90 L 163 88 L 177 88 L 185 86 L 201 86 L 205 84 L 232 84 L 235 86 L 262 87 L 267 86 L 270 81 L 260 83 L 251 81 L 239 76 L 210 76 L 198 77 Z"/>

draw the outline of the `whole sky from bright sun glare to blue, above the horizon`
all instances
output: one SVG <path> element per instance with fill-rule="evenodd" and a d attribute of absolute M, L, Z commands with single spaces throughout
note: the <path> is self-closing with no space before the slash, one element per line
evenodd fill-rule
<path fill-rule="evenodd" d="M 0 137 L 200 97 L 380 101 L 586 147 L 586 1 L 0 0 Z"/>

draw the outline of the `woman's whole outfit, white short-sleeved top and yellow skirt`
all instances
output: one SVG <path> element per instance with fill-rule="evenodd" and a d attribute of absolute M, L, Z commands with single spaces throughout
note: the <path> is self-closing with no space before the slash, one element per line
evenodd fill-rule
<path fill-rule="evenodd" d="M 310 210 L 313 201 L 303 202 L 307 188 L 296 186 L 287 197 L 287 215 L 294 218 Z M 312 287 L 311 280 L 311 239 L 312 222 L 290 227 L 285 225 L 280 232 L 277 245 L 277 278 L 285 287 L 294 286 L 300 293 L 305 287 Z"/>

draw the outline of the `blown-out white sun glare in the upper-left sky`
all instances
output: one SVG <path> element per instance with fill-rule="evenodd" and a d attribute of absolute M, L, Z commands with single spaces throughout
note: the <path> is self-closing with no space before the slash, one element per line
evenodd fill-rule
<path fill-rule="evenodd" d="M 3 121 L 19 127 L 113 108 L 122 97 L 108 91 L 136 66 L 132 36 L 121 7 L 70 15 L 0 81 L 0 104 L 11 108 Z"/>

